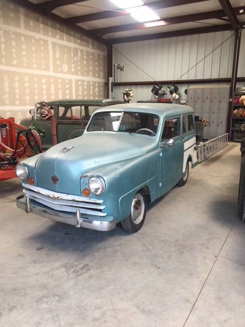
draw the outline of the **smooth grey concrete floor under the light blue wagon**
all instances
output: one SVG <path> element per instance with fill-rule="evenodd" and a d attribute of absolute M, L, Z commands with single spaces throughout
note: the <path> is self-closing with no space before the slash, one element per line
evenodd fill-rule
<path fill-rule="evenodd" d="M 245 225 L 238 144 L 151 205 L 136 234 L 26 214 L 1 183 L 0 325 L 244 327 Z"/>

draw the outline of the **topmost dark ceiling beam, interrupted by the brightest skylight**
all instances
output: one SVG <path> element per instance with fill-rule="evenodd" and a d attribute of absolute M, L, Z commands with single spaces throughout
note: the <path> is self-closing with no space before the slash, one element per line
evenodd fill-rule
<path fill-rule="evenodd" d="M 157 9 L 162 9 L 162 8 L 188 5 L 188 4 L 204 2 L 204 1 L 207 1 L 207 0 L 162 0 L 162 1 L 151 2 L 151 3 L 145 4 L 145 5 L 147 5 L 152 10 L 157 10 Z M 121 8 L 118 8 L 117 10 L 118 11 L 106 10 L 106 11 L 101 11 L 101 12 L 95 12 L 93 14 L 70 17 L 70 18 L 67 18 L 67 20 L 70 22 L 73 22 L 74 24 L 78 24 L 79 22 L 86 22 L 86 21 L 91 21 L 91 20 L 99 20 L 99 19 L 106 19 L 106 18 L 129 15 L 128 12 L 123 11 L 123 9 L 121 9 Z"/>

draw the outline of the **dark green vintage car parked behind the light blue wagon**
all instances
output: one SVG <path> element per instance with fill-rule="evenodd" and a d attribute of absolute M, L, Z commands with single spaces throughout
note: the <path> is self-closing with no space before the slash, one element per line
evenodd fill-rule
<path fill-rule="evenodd" d="M 111 99 L 64 99 L 47 102 L 47 105 L 54 112 L 58 143 L 81 136 L 96 109 L 121 103 L 124 103 L 124 101 Z M 32 121 L 33 117 L 24 118 L 21 120 L 20 125 L 29 127 Z M 38 115 L 37 124 L 38 129 L 43 132 L 41 138 L 42 149 L 51 148 L 53 146 L 51 120 L 43 120 Z"/>

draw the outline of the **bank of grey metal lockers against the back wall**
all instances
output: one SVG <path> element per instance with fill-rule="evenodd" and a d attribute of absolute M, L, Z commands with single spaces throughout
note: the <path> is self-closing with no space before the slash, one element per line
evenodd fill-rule
<path fill-rule="evenodd" d="M 189 86 L 187 104 L 195 110 L 195 115 L 210 122 L 210 126 L 204 128 L 204 138 L 211 139 L 226 132 L 229 90 L 228 84 Z"/>

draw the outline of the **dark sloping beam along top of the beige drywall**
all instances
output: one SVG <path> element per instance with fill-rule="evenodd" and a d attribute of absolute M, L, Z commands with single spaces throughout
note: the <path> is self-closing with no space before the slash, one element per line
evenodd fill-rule
<path fill-rule="evenodd" d="M 28 0 L 10 0 L 10 1 L 20 7 L 26 8 L 28 10 L 35 12 L 36 14 L 44 16 L 45 18 L 50 18 L 51 20 L 58 22 L 60 25 L 63 25 L 63 26 L 65 26 L 69 29 L 72 29 L 78 33 L 82 33 L 82 34 L 86 35 L 87 37 L 92 38 L 100 43 L 103 43 L 105 45 L 107 44 L 107 40 L 101 38 L 100 36 L 95 35 L 91 31 L 85 30 L 84 28 L 82 28 L 78 25 L 72 24 L 71 22 L 67 21 L 66 19 L 64 19 L 56 14 L 53 14 L 52 12 L 43 13 L 43 11 L 40 10 L 40 8 L 37 5 L 33 4 L 32 2 L 30 2 Z"/>

